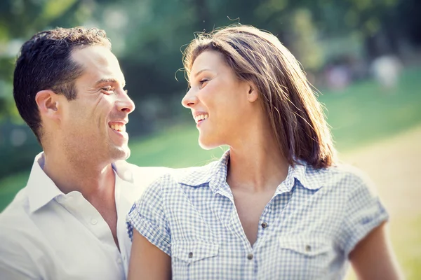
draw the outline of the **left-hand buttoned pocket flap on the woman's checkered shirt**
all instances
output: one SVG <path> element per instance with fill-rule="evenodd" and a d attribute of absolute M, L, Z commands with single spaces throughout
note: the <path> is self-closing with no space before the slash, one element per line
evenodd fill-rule
<path fill-rule="evenodd" d="M 172 256 L 185 262 L 196 262 L 218 255 L 219 248 L 218 244 L 201 240 L 174 241 L 171 247 Z"/>

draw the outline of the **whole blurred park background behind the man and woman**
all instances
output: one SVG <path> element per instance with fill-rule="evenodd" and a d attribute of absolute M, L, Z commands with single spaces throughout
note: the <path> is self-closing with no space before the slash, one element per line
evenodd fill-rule
<path fill-rule="evenodd" d="M 128 161 L 189 167 L 223 150 L 199 148 L 191 113 L 180 105 L 182 50 L 198 31 L 239 22 L 271 31 L 298 57 L 326 106 L 340 158 L 377 185 L 404 274 L 421 279 L 420 12 L 417 0 L 2 0 L 0 211 L 41 151 L 12 94 L 16 55 L 36 31 L 105 29 L 136 104 Z M 389 78 L 380 80 L 385 69 Z"/>

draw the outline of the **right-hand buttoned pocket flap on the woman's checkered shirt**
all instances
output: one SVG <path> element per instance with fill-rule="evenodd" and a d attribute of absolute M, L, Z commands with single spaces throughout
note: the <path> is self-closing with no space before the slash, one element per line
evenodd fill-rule
<path fill-rule="evenodd" d="M 330 249 L 326 238 L 308 235 L 279 237 L 279 246 L 308 256 L 326 253 Z"/>

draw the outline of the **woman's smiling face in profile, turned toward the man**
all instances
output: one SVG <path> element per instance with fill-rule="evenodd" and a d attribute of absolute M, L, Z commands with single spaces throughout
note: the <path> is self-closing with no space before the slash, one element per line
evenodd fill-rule
<path fill-rule="evenodd" d="M 216 51 L 202 52 L 194 60 L 189 83 L 182 105 L 192 110 L 199 145 L 210 149 L 241 141 L 248 119 L 253 117 L 250 83 L 236 78 Z"/>

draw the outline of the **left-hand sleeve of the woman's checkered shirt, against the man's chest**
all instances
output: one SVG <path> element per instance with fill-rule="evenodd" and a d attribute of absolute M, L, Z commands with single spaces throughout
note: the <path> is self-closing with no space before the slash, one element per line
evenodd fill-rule
<path fill-rule="evenodd" d="M 168 175 L 169 176 L 169 175 Z M 161 179 L 150 185 L 127 215 L 128 236 L 133 241 L 133 230 L 137 230 L 149 242 L 171 256 L 171 235 L 164 212 Z M 168 178 L 168 177 L 167 177 Z"/>

